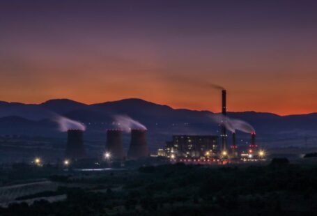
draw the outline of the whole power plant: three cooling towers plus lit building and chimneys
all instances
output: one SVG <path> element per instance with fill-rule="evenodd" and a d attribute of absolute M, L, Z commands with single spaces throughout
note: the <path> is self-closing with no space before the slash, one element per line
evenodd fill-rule
<path fill-rule="evenodd" d="M 226 90 L 222 89 L 222 115 L 219 121 L 220 139 L 217 135 L 173 134 L 164 148 L 157 151 L 157 156 L 167 157 L 180 162 L 238 162 L 265 160 L 264 151 L 258 149 L 256 132 L 250 133 L 251 139 L 247 151 L 238 151 L 234 125 L 226 113 Z M 232 126 L 232 127 L 231 127 Z M 229 127 L 229 128 L 228 128 Z M 231 128 L 230 128 L 231 127 Z M 250 127 L 252 128 L 252 126 Z M 232 143 L 228 146 L 227 130 L 231 131 Z M 150 156 L 145 128 L 130 128 L 130 146 L 127 153 L 123 148 L 123 130 L 107 130 L 105 157 L 112 161 L 140 160 Z M 70 160 L 86 157 L 83 141 L 84 130 L 68 130 L 65 156 Z M 219 145 L 220 143 L 220 145 Z"/>

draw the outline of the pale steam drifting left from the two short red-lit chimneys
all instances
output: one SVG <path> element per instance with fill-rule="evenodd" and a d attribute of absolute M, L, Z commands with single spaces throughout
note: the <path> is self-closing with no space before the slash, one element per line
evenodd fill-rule
<path fill-rule="evenodd" d="M 235 132 L 235 130 L 240 130 L 246 133 L 255 132 L 252 125 L 239 119 L 229 118 L 228 116 L 224 116 L 222 114 L 215 114 L 210 116 L 210 118 L 212 118 L 212 120 L 216 123 L 223 123 L 226 129 L 230 130 L 231 132 Z"/>

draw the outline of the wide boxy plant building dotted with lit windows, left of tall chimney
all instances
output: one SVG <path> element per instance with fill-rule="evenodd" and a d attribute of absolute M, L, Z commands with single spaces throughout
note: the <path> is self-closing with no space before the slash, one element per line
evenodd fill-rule
<path fill-rule="evenodd" d="M 217 154 L 217 136 L 173 135 L 165 148 L 167 157 L 201 158 Z"/>

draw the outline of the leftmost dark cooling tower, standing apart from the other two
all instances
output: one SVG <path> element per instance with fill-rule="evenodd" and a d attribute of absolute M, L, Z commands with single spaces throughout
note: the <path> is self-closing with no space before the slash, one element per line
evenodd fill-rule
<path fill-rule="evenodd" d="M 66 157 L 68 159 L 77 160 L 86 157 L 83 137 L 83 130 L 68 130 L 66 146 Z"/>

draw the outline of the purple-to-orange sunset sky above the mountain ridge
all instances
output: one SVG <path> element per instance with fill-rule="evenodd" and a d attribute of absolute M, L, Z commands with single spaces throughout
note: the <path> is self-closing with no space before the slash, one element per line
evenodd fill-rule
<path fill-rule="evenodd" d="M 229 111 L 317 111 L 316 1 L 15 2 L 0 3 L 0 100 L 220 111 L 212 83 Z"/>

